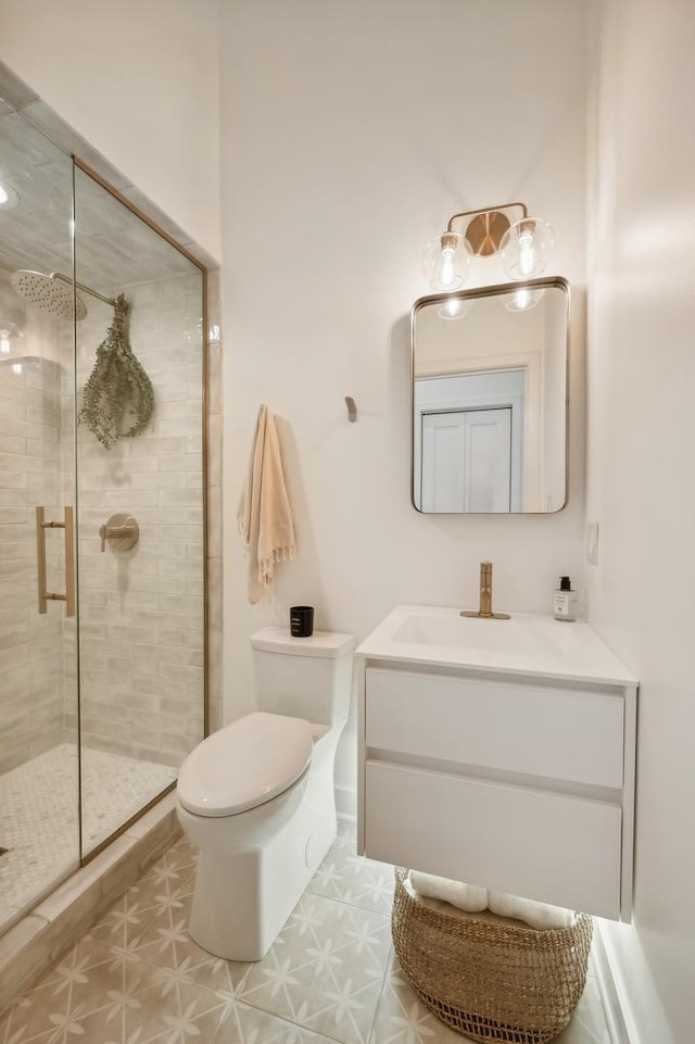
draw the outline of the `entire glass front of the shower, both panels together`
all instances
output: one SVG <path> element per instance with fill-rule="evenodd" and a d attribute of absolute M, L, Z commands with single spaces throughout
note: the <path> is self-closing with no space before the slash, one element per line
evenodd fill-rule
<path fill-rule="evenodd" d="M 205 269 L 0 101 L 0 931 L 206 729 Z"/>

